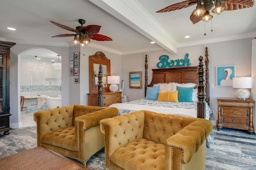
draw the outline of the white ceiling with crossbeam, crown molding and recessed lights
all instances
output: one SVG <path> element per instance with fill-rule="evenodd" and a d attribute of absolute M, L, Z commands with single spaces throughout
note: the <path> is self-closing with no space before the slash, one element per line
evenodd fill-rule
<path fill-rule="evenodd" d="M 256 5 L 242 10 L 224 11 L 212 23 L 193 25 L 190 14 L 196 5 L 177 11 L 156 13 L 182 0 L 1 0 L 0 40 L 23 44 L 71 46 L 72 37 L 52 36 L 72 33 L 50 23 L 72 28 L 101 25 L 100 34 L 113 41 L 94 41 L 88 46 L 120 55 L 176 48 L 189 45 L 256 37 Z M 10 31 L 6 27 L 14 27 Z M 211 31 L 213 29 L 213 31 Z M 184 36 L 190 35 L 185 39 Z M 1 38 L 2 37 L 2 38 Z M 155 41 L 156 44 L 150 44 Z M 86 48 L 86 47 L 84 47 Z"/>

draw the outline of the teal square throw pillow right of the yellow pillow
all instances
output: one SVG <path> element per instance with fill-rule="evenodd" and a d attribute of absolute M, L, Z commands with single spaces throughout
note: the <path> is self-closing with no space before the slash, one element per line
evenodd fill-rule
<path fill-rule="evenodd" d="M 179 102 L 193 102 L 193 90 L 194 87 L 176 87 L 178 90 L 178 101 Z"/>

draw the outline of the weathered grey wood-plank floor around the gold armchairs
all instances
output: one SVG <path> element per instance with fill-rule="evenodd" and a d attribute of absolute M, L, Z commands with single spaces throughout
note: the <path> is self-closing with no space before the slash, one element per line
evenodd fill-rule
<path fill-rule="evenodd" d="M 36 147 L 36 127 L 21 127 L 0 134 L 0 158 Z M 212 131 L 213 143 L 206 149 L 205 170 L 256 170 L 256 134 L 223 128 Z M 87 162 L 92 170 L 104 170 L 104 150 Z"/>

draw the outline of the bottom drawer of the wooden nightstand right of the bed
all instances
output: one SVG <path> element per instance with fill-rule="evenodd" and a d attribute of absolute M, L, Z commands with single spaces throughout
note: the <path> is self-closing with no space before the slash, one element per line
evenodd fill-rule
<path fill-rule="evenodd" d="M 234 126 L 242 126 L 242 127 L 249 126 L 248 118 L 245 118 L 245 117 L 223 116 L 222 123 L 230 124 L 230 125 L 234 125 Z"/>

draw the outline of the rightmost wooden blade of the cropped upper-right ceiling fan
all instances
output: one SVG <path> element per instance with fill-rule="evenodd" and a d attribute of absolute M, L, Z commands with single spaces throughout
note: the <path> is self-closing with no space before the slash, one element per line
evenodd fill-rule
<path fill-rule="evenodd" d="M 254 0 L 226 0 L 222 5 L 226 6 L 227 11 L 251 8 L 254 6 Z"/>

